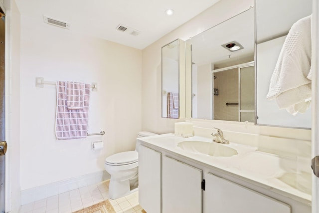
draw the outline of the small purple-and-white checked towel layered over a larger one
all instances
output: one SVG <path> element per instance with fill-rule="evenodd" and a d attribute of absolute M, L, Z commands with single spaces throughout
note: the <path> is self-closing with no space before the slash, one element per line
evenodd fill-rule
<path fill-rule="evenodd" d="M 84 83 L 66 82 L 66 105 L 68 109 L 83 109 Z"/>

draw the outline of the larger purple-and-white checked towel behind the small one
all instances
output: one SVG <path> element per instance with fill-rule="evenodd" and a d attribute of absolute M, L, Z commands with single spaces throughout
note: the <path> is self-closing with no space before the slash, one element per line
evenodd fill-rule
<path fill-rule="evenodd" d="M 56 82 L 55 136 L 57 139 L 85 138 L 88 131 L 88 114 L 91 85 L 85 84 L 83 109 L 68 109 L 67 82 Z"/>

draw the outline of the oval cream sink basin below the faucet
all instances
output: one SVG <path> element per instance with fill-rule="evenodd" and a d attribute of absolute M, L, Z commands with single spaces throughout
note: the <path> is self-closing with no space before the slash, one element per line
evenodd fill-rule
<path fill-rule="evenodd" d="M 214 157 L 231 157 L 238 154 L 235 149 L 215 142 L 183 141 L 177 146 L 187 152 Z"/>

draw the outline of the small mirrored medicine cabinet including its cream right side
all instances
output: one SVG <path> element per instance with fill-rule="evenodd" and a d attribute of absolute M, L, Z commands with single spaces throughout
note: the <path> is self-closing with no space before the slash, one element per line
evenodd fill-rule
<path fill-rule="evenodd" d="M 161 48 L 162 118 L 185 117 L 185 44 L 176 39 Z"/>

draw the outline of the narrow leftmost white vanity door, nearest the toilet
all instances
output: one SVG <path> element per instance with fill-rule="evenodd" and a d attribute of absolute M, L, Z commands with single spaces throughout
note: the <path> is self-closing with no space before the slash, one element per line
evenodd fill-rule
<path fill-rule="evenodd" d="M 139 147 L 139 203 L 148 213 L 161 213 L 161 153 Z"/>

